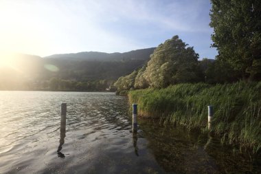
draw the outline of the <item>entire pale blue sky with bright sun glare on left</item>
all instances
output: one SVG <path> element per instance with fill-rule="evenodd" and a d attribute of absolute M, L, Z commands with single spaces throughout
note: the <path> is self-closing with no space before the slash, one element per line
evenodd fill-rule
<path fill-rule="evenodd" d="M 128 52 L 179 35 L 214 58 L 210 8 L 208 0 L 0 0 L 0 52 Z"/>

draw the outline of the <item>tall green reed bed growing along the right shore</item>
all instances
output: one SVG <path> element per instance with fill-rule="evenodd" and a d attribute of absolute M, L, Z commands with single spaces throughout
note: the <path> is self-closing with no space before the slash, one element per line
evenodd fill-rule
<path fill-rule="evenodd" d="M 207 105 L 214 106 L 212 131 L 222 143 L 261 149 L 261 82 L 226 85 L 180 84 L 128 93 L 139 116 L 207 131 Z"/>

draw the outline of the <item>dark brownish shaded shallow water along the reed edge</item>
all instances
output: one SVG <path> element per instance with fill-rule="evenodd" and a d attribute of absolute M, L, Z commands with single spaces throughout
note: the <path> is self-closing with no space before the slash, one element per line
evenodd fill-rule
<path fill-rule="evenodd" d="M 140 128 L 157 162 L 174 173 L 261 173 L 261 155 L 221 146 L 214 135 L 140 119 Z"/>

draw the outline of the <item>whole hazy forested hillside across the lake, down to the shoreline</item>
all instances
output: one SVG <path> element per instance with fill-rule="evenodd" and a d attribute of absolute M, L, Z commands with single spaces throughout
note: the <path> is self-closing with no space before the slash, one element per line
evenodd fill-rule
<path fill-rule="evenodd" d="M 125 53 L 81 52 L 41 58 L 12 54 L 0 67 L 0 90 L 104 91 L 146 64 L 155 48 Z"/>

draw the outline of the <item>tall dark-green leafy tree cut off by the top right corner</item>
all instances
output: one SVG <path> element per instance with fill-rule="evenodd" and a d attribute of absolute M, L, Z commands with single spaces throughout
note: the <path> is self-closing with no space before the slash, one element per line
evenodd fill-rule
<path fill-rule="evenodd" d="M 261 1 L 212 0 L 210 17 L 217 58 L 243 78 L 260 78 Z"/>

